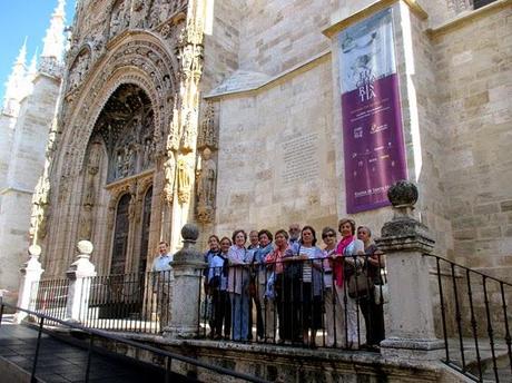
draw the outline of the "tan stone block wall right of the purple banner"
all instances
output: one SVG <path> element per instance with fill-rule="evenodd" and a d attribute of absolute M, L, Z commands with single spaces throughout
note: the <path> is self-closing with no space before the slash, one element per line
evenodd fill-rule
<path fill-rule="evenodd" d="M 510 279 L 512 9 L 434 35 L 441 167 L 454 259 Z"/>

